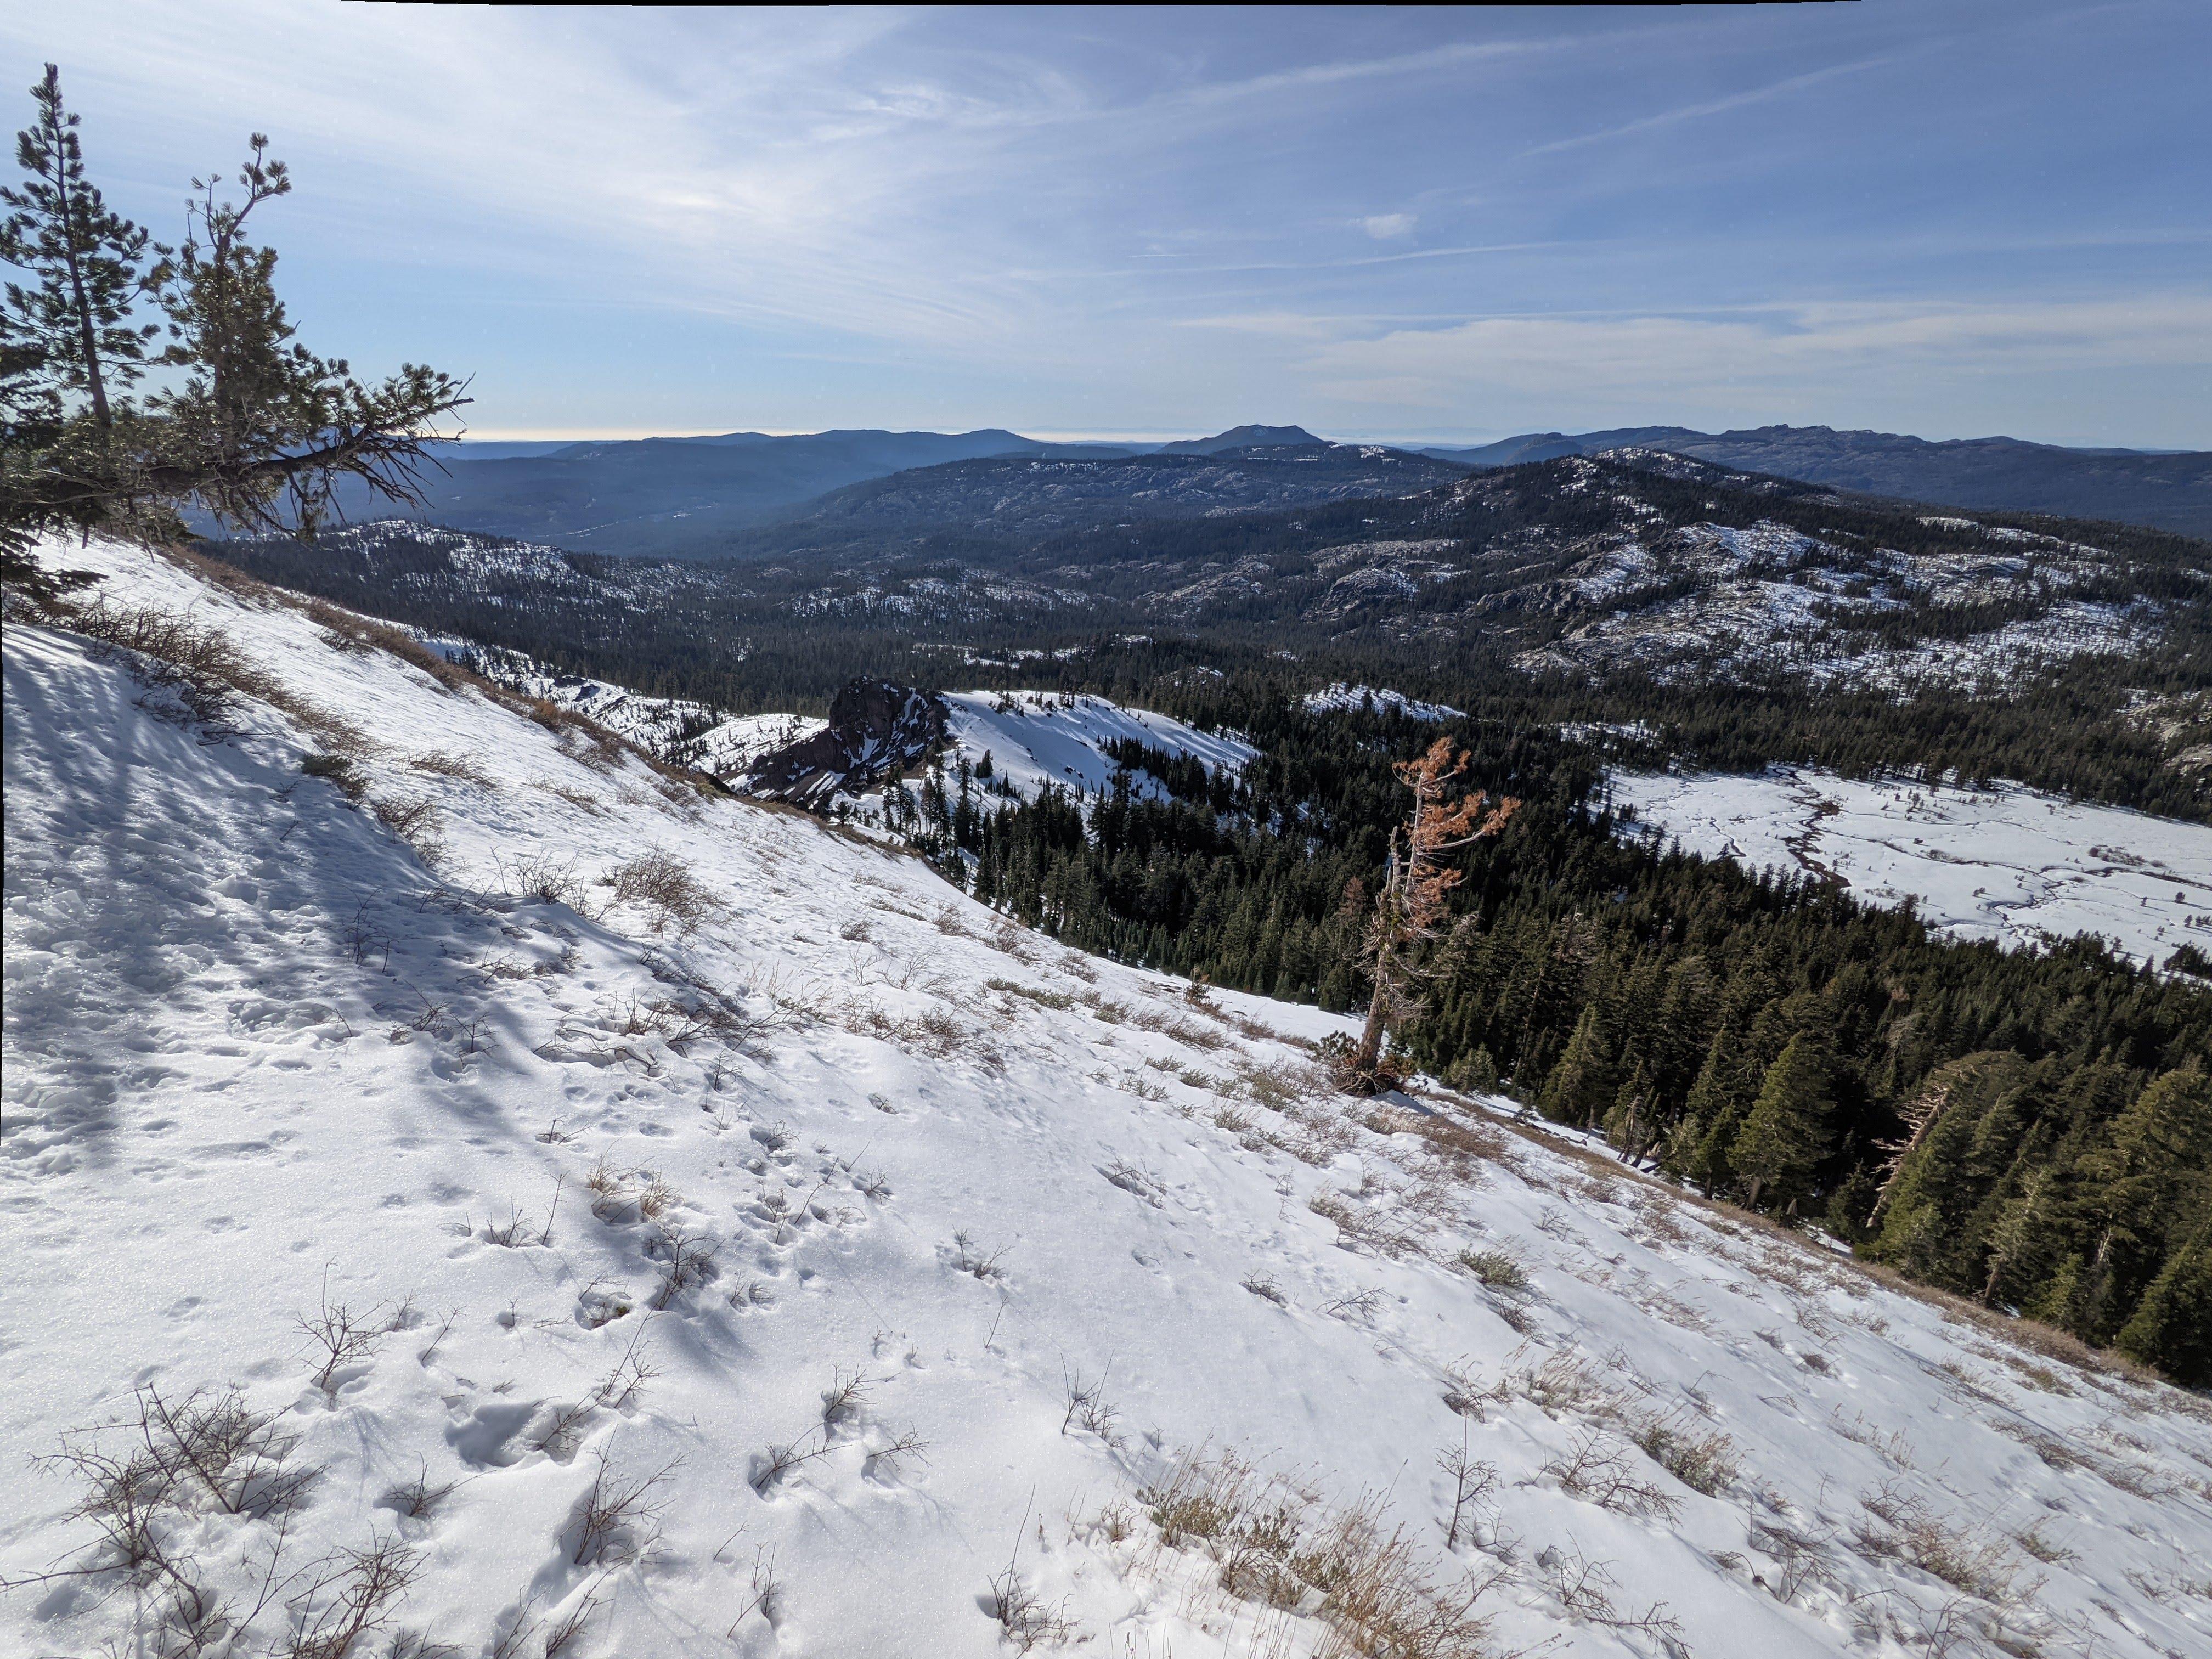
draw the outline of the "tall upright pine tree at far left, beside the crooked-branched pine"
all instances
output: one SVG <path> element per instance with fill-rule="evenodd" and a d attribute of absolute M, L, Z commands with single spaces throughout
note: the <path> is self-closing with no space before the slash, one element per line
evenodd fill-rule
<path fill-rule="evenodd" d="M 0 259 L 35 276 L 33 288 L 7 285 L 9 347 L 22 354 L 27 392 L 35 387 L 46 409 L 62 394 L 77 394 L 91 405 L 93 425 L 108 431 L 111 387 L 119 392 L 146 372 L 146 341 L 161 332 L 159 323 L 131 323 L 148 292 L 142 272 L 148 239 L 108 210 L 100 186 L 84 177 L 80 117 L 62 104 L 62 73 L 53 64 L 31 97 L 38 117 L 15 135 L 24 179 L 0 188 L 11 208 L 0 223 Z"/>

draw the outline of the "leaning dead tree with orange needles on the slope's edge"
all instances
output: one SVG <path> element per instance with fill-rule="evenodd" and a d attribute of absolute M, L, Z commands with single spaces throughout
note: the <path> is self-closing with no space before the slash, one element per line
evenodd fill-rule
<path fill-rule="evenodd" d="M 1436 938 L 1444 896 L 1462 876 L 1444 863 L 1444 856 L 1495 836 L 1520 807 L 1511 794 L 1491 805 L 1484 790 L 1458 803 L 1447 801 L 1451 785 L 1467 772 L 1467 752 L 1453 750 L 1449 737 L 1436 739 L 1418 761 L 1398 761 L 1391 770 L 1413 792 L 1413 812 L 1391 832 L 1389 869 L 1376 894 L 1374 916 L 1367 920 L 1365 953 L 1376 993 L 1367 1004 L 1367 1031 L 1360 1033 L 1360 1046 L 1352 1057 L 1365 1088 L 1380 1082 L 1383 1037 L 1391 1022 L 1420 1006 L 1411 991 L 1416 978 L 1411 953 L 1416 945 Z"/>

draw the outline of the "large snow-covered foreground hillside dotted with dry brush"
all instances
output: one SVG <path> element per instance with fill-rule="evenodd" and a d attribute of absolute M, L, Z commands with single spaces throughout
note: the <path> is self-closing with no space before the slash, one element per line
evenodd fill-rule
<path fill-rule="evenodd" d="M 321 739 L 7 628 L 0 1652 L 2212 1650 L 2201 1398 L 1502 1104 L 1332 1095 L 1327 1015 L 285 604 L 69 562 Z M 97 1511 L 64 1444 L 170 1475 Z"/>

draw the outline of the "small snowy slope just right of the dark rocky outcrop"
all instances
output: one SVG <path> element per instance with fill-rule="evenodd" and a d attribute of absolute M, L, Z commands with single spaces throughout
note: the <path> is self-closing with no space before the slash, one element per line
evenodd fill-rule
<path fill-rule="evenodd" d="M 991 757 L 993 776 L 1024 801 L 1046 783 L 1097 794 L 1119 770 L 1104 745 L 1135 739 L 1168 754 L 1188 754 L 1208 772 L 1241 772 L 1259 752 L 1225 732 L 1201 732 L 1170 714 L 1121 708 L 1104 697 L 1064 692 L 947 692 L 947 730 L 960 757 L 975 765 Z M 1159 796 L 1157 779 L 1137 774 L 1141 794 Z"/>

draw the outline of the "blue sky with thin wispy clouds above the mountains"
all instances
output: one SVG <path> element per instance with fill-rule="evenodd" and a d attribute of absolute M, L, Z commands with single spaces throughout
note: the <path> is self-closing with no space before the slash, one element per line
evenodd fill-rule
<path fill-rule="evenodd" d="M 1630 422 L 2212 449 L 2212 7 L 9 7 L 473 436 Z M 9 126 L 29 115 L 18 95 Z"/>

